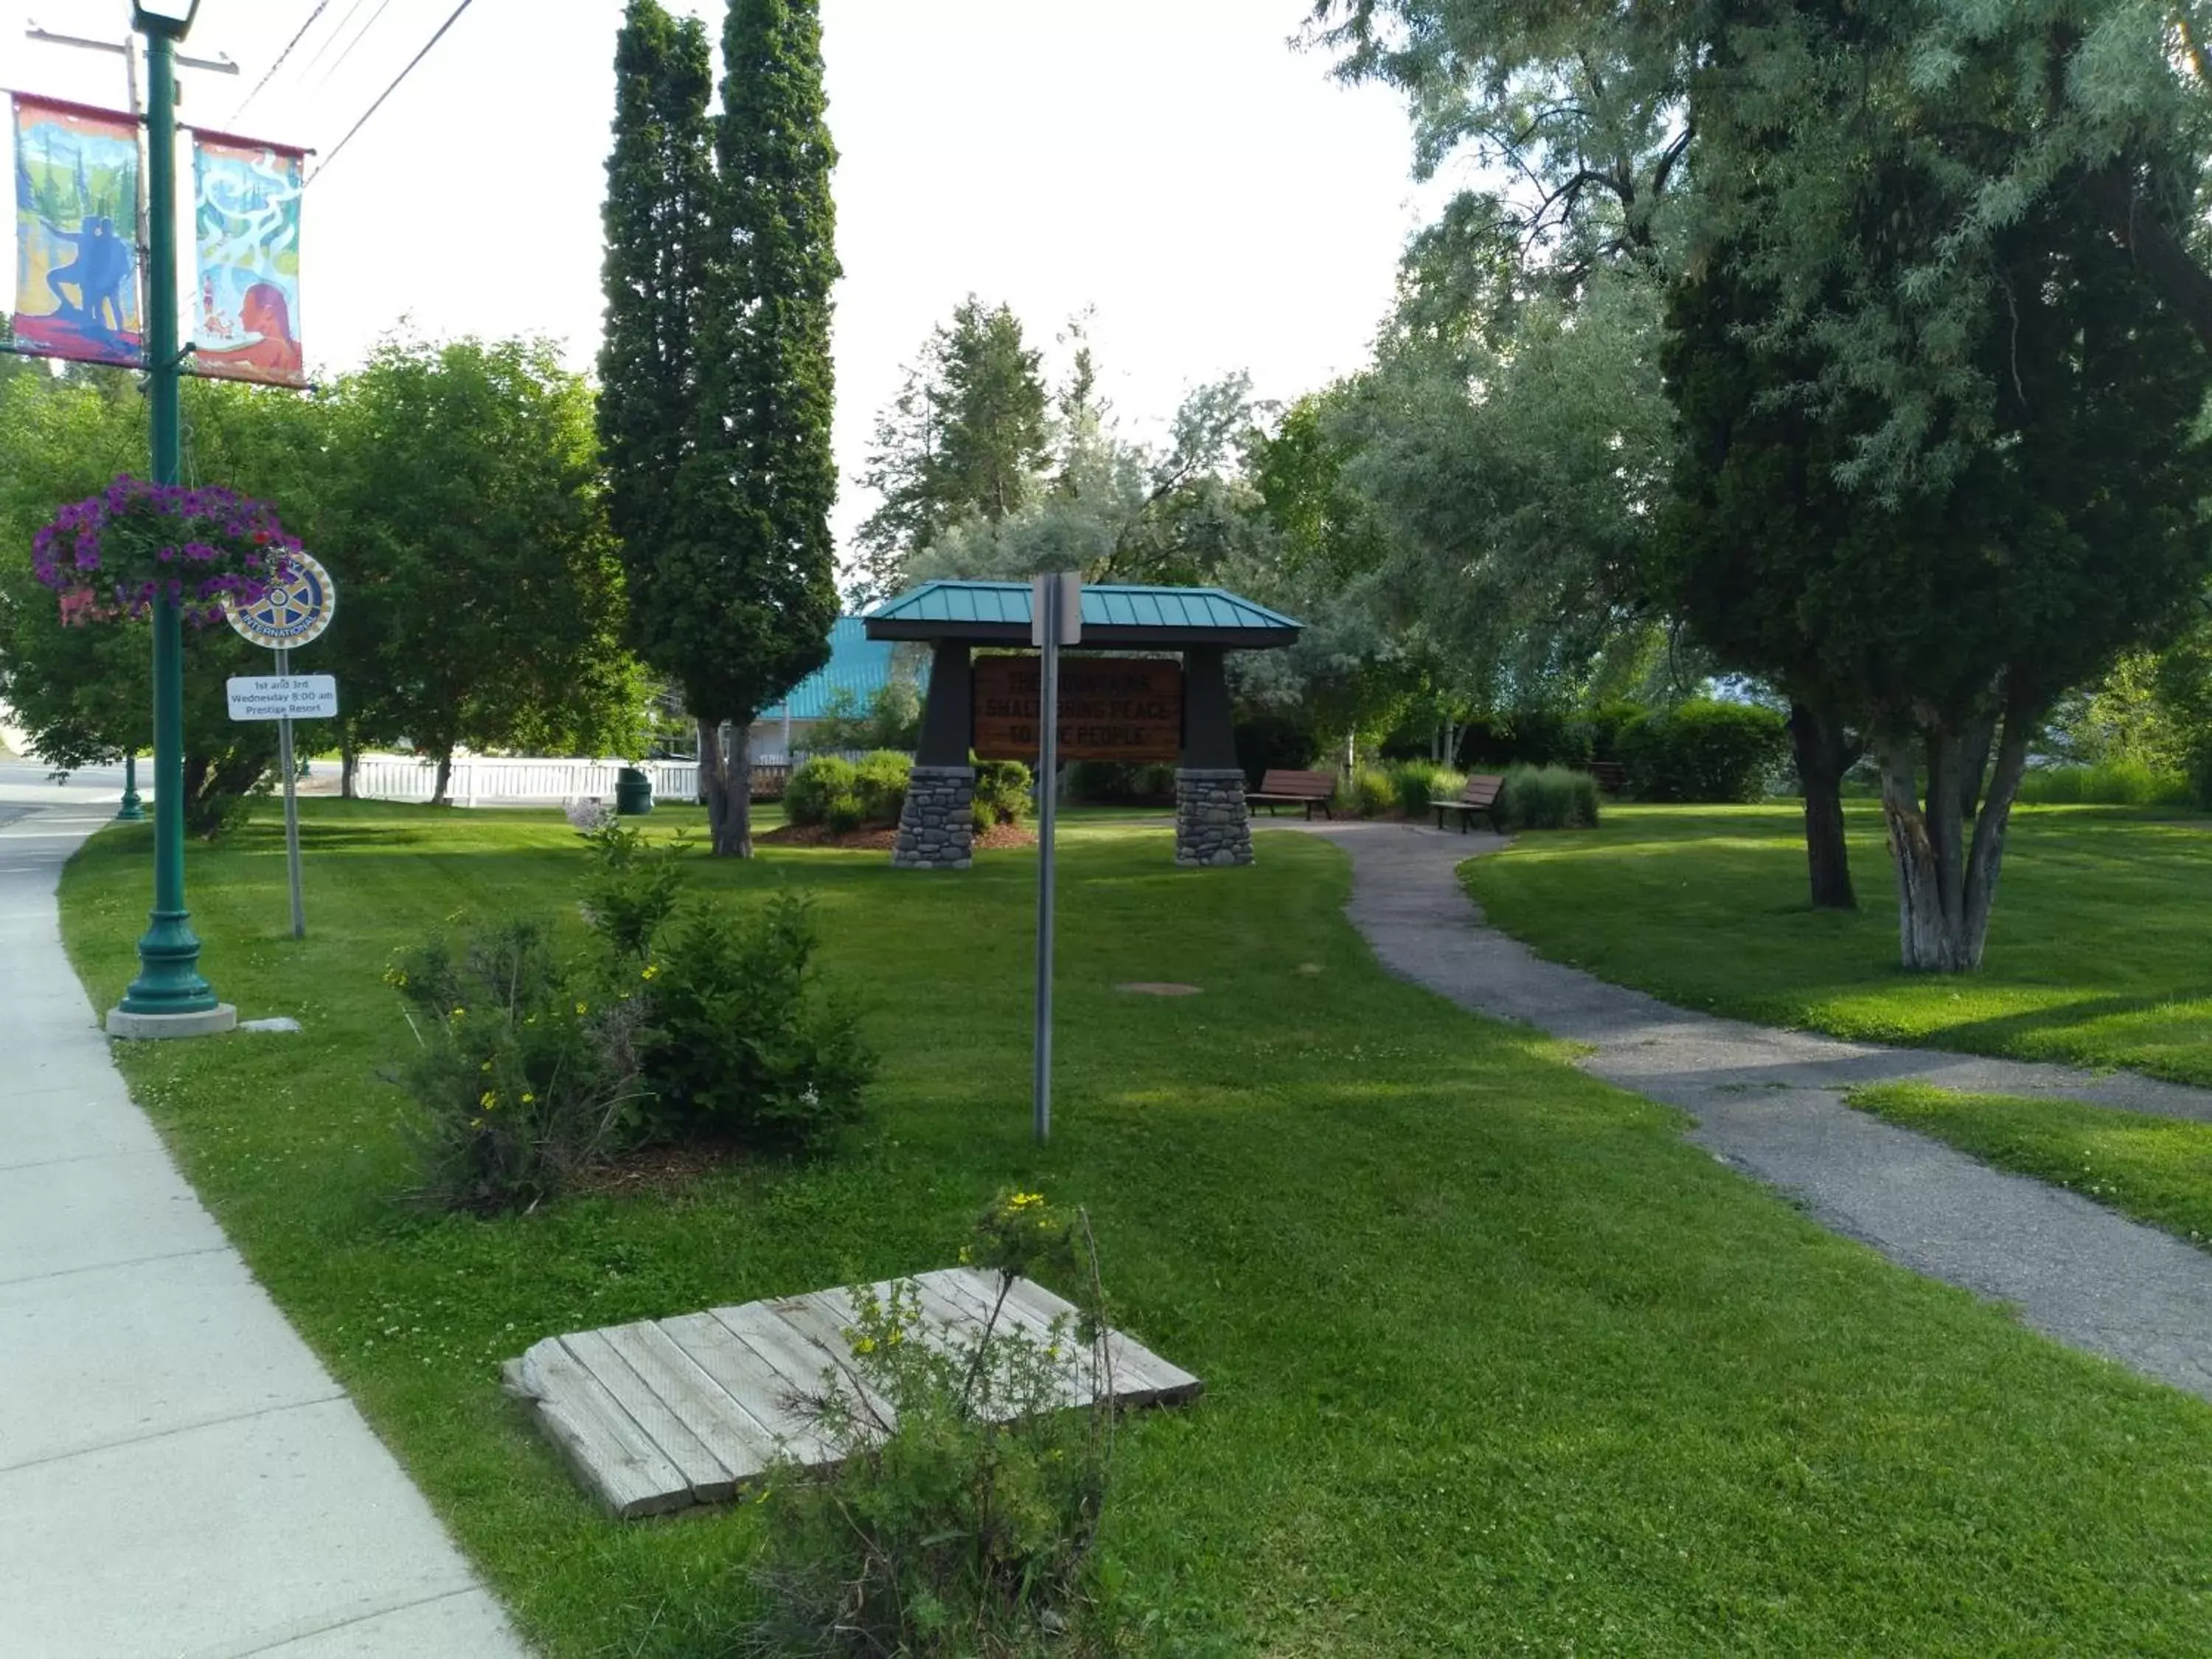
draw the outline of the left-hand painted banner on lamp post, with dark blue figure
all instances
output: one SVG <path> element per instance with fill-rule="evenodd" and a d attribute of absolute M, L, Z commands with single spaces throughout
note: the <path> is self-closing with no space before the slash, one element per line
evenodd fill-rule
<path fill-rule="evenodd" d="M 15 343 L 139 367 L 137 122 L 15 97 Z"/>

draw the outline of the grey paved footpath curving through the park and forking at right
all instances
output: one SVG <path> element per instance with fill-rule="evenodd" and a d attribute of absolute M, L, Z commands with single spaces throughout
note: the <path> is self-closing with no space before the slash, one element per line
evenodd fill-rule
<path fill-rule="evenodd" d="M 1692 1141 L 1792 1192 L 1825 1225 L 2013 1303 L 2062 1343 L 2212 1398 L 2212 1254 L 1843 1104 L 1849 1088 L 1911 1079 L 2212 1121 L 2212 1091 L 1686 1013 L 1486 927 L 1455 869 L 1506 845 L 1500 836 L 1380 823 L 1316 823 L 1310 834 L 1352 854 L 1352 922 L 1394 973 L 1588 1044 L 1586 1071 L 1679 1106 L 1694 1119 Z"/>

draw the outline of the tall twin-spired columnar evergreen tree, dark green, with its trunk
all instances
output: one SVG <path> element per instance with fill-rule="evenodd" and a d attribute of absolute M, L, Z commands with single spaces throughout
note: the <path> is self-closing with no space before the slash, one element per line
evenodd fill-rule
<path fill-rule="evenodd" d="M 633 0 L 608 164 L 604 418 L 639 650 L 699 721 L 714 852 L 752 854 L 748 728 L 830 655 L 830 197 L 816 0 L 732 0 L 706 157 L 703 40 Z M 723 728 L 730 739 L 723 741 Z"/>

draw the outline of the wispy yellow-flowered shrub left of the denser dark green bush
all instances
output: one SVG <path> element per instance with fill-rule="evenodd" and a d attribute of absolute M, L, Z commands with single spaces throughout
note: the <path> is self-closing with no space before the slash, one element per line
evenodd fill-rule
<path fill-rule="evenodd" d="M 577 987 L 542 927 L 509 922 L 458 951 L 431 940 L 396 956 L 385 984 L 416 1009 L 420 1051 L 394 1082 L 420 1106 L 409 1139 L 425 1201 L 533 1208 L 641 1121 L 639 1004 Z"/>

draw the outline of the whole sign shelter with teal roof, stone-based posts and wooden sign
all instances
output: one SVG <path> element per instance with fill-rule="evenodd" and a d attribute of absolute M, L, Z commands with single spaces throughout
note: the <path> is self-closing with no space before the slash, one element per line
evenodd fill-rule
<path fill-rule="evenodd" d="M 869 639 L 914 639 L 936 653 L 891 854 L 902 869 L 969 867 L 971 754 L 1037 759 L 1029 595 L 1026 582 L 925 582 L 867 615 Z M 1223 659 L 1290 646 L 1298 630 L 1221 588 L 1086 586 L 1084 655 L 1064 657 L 1060 668 L 1060 757 L 1172 763 L 1175 863 L 1252 863 Z"/>

